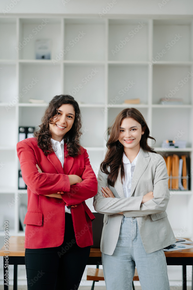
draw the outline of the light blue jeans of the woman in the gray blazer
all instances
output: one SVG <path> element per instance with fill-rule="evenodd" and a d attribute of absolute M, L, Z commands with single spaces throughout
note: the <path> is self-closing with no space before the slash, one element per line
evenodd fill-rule
<path fill-rule="evenodd" d="M 132 290 L 135 266 L 142 290 L 170 290 L 163 249 L 146 253 L 136 218 L 123 217 L 112 255 L 102 253 L 107 290 Z"/>

